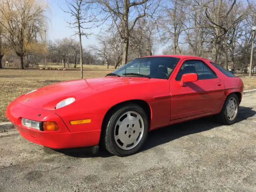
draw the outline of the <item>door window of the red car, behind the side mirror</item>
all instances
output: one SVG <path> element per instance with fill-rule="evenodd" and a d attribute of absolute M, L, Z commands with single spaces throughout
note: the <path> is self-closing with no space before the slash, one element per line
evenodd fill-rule
<path fill-rule="evenodd" d="M 204 62 L 199 60 L 185 61 L 182 64 L 175 80 L 180 81 L 182 75 L 186 73 L 198 74 L 198 80 L 213 79 L 217 77 L 216 74 Z"/>

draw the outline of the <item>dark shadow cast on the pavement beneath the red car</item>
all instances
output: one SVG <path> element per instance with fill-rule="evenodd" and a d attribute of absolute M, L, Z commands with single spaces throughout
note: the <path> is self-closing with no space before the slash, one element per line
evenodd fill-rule
<path fill-rule="evenodd" d="M 256 114 L 256 111 L 254 111 L 252 108 L 241 106 L 236 122 L 241 122 L 243 120 L 246 120 L 254 116 L 255 114 Z M 149 132 L 148 138 L 144 146 L 142 147 L 142 150 L 140 150 L 140 152 L 149 150 L 150 148 L 154 148 L 158 145 L 168 143 L 172 140 L 181 138 L 183 136 L 204 132 L 220 126 L 223 126 L 223 124 L 216 122 L 214 117 L 210 116 L 210 117 L 190 120 L 188 122 L 174 124 L 171 126 L 166 126 L 157 130 L 153 130 Z M 55 151 L 63 153 L 68 156 L 76 157 L 76 158 L 89 158 L 89 157 L 90 158 L 92 157 L 107 158 L 107 157 L 113 156 L 112 154 L 106 152 L 102 148 L 100 148 L 100 151 L 98 154 L 92 154 L 90 148 L 65 149 L 65 150 L 55 150 Z"/>

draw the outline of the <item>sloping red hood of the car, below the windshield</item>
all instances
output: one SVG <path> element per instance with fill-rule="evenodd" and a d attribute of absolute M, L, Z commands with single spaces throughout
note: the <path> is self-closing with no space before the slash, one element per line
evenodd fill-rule
<path fill-rule="evenodd" d="M 72 80 L 51 84 L 39 88 L 35 92 L 23 94 L 16 98 L 16 102 L 32 108 L 55 110 L 56 104 L 66 98 L 74 97 L 76 100 L 80 100 L 113 88 L 156 80 L 137 77 L 103 77 Z"/>

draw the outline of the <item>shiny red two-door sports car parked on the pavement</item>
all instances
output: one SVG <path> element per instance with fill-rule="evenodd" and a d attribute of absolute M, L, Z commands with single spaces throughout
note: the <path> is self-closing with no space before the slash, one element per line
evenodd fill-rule
<path fill-rule="evenodd" d="M 134 59 L 102 78 L 52 84 L 16 98 L 6 116 L 31 142 L 49 148 L 98 146 L 117 156 L 140 150 L 148 131 L 217 115 L 233 124 L 239 77 L 204 58 Z"/>

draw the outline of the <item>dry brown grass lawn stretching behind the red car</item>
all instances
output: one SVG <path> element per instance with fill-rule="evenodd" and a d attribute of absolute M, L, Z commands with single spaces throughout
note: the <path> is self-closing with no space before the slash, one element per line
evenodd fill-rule
<path fill-rule="evenodd" d="M 90 68 L 91 67 L 91 68 Z M 84 78 L 101 77 L 113 71 L 106 66 L 85 66 Z M 80 70 L 0 70 L 0 122 L 6 122 L 6 106 L 17 96 L 48 84 L 80 78 Z M 241 76 L 245 90 L 256 88 L 256 76 Z"/>

